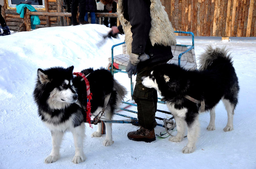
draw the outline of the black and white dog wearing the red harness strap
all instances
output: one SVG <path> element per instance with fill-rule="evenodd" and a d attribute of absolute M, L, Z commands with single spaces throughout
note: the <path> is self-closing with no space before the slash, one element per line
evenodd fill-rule
<path fill-rule="evenodd" d="M 85 160 L 83 140 L 85 136 L 87 105 L 86 84 L 82 77 L 73 76 L 74 67 L 52 67 L 38 69 L 34 90 L 34 99 L 38 106 L 38 114 L 52 133 L 52 152 L 45 158 L 45 163 L 55 162 L 60 156 L 60 144 L 66 131 L 71 131 L 75 143 L 74 163 Z M 85 69 L 81 73 L 87 76 L 92 93 L 91 112 L 98 114 L 104 105 L 105 98 L 110 95 L 104 118 L 111 119 L 113 112 L 119 109 L 127 91 L 103 68 Z M 101 136 L 101 123 L 92 137 Z M 112 125 L 106 123 L 106 138 L 103 145 L 113 144 Z"/>

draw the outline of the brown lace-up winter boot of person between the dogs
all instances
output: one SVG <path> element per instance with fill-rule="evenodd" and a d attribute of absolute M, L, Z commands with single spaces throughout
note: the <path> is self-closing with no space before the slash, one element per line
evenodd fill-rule
<path fill-rule="evenodd" d="M 133 141 L 145 141 L 146 143 L 155 142 L 156 135 L 155 130 L 148 130 L 140 126 L 137 131 L 131 131 L 127 134 L 127 137 Z"/>

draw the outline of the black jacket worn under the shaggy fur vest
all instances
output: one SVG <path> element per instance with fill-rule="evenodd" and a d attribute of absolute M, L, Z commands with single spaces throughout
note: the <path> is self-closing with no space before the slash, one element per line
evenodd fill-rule
<path fill-rule="evenodd" d="M 149 64 L 153 66 L 173 58 L 171 46 L 158 44 L 152 46 L 151 44 L 149 39 L 149 31 L 151 29 L 150 4 L 149 0 L 123 0 L 124 18 L 132 26 L 132 53 L 145 52 L 150 57 L 148 60 L 140 62 L 137 70 Z"/>

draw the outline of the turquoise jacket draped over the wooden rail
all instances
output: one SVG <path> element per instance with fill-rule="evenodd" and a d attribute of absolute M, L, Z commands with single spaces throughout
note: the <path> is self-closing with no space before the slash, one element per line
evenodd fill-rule
<path fill-rule="evenodd" d="M 35 12 L 36 9 L 29 4 L 16 5 L 16 12 L 20 14 L 20 18 L 24 18 L 24 8 L 27 7 L 29 11 Z M 40 19 L 36 15 L 30 15 L 31 29 L 36 29 L 36 25 L 40 25 Z"/>

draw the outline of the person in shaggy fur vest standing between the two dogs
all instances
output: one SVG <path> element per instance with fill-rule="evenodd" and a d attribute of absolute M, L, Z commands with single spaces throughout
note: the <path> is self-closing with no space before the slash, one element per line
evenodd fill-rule
<path fill-rule="evenodd" d="M 174 29 L 160 0 L 118 0 L 117 13 L 122 26 L 112 27 L 112 32 L 122 32 L 123 29 L 130 55 L 126 71 L 129 78 L 137 73 L 133 99 L 137 103 L 140 129 L 127 136 L 134 141 L 154 142 L 157 92 L 143 86 L 141 77 L 148 76 L 153 66 L 173 58 Z"/>

